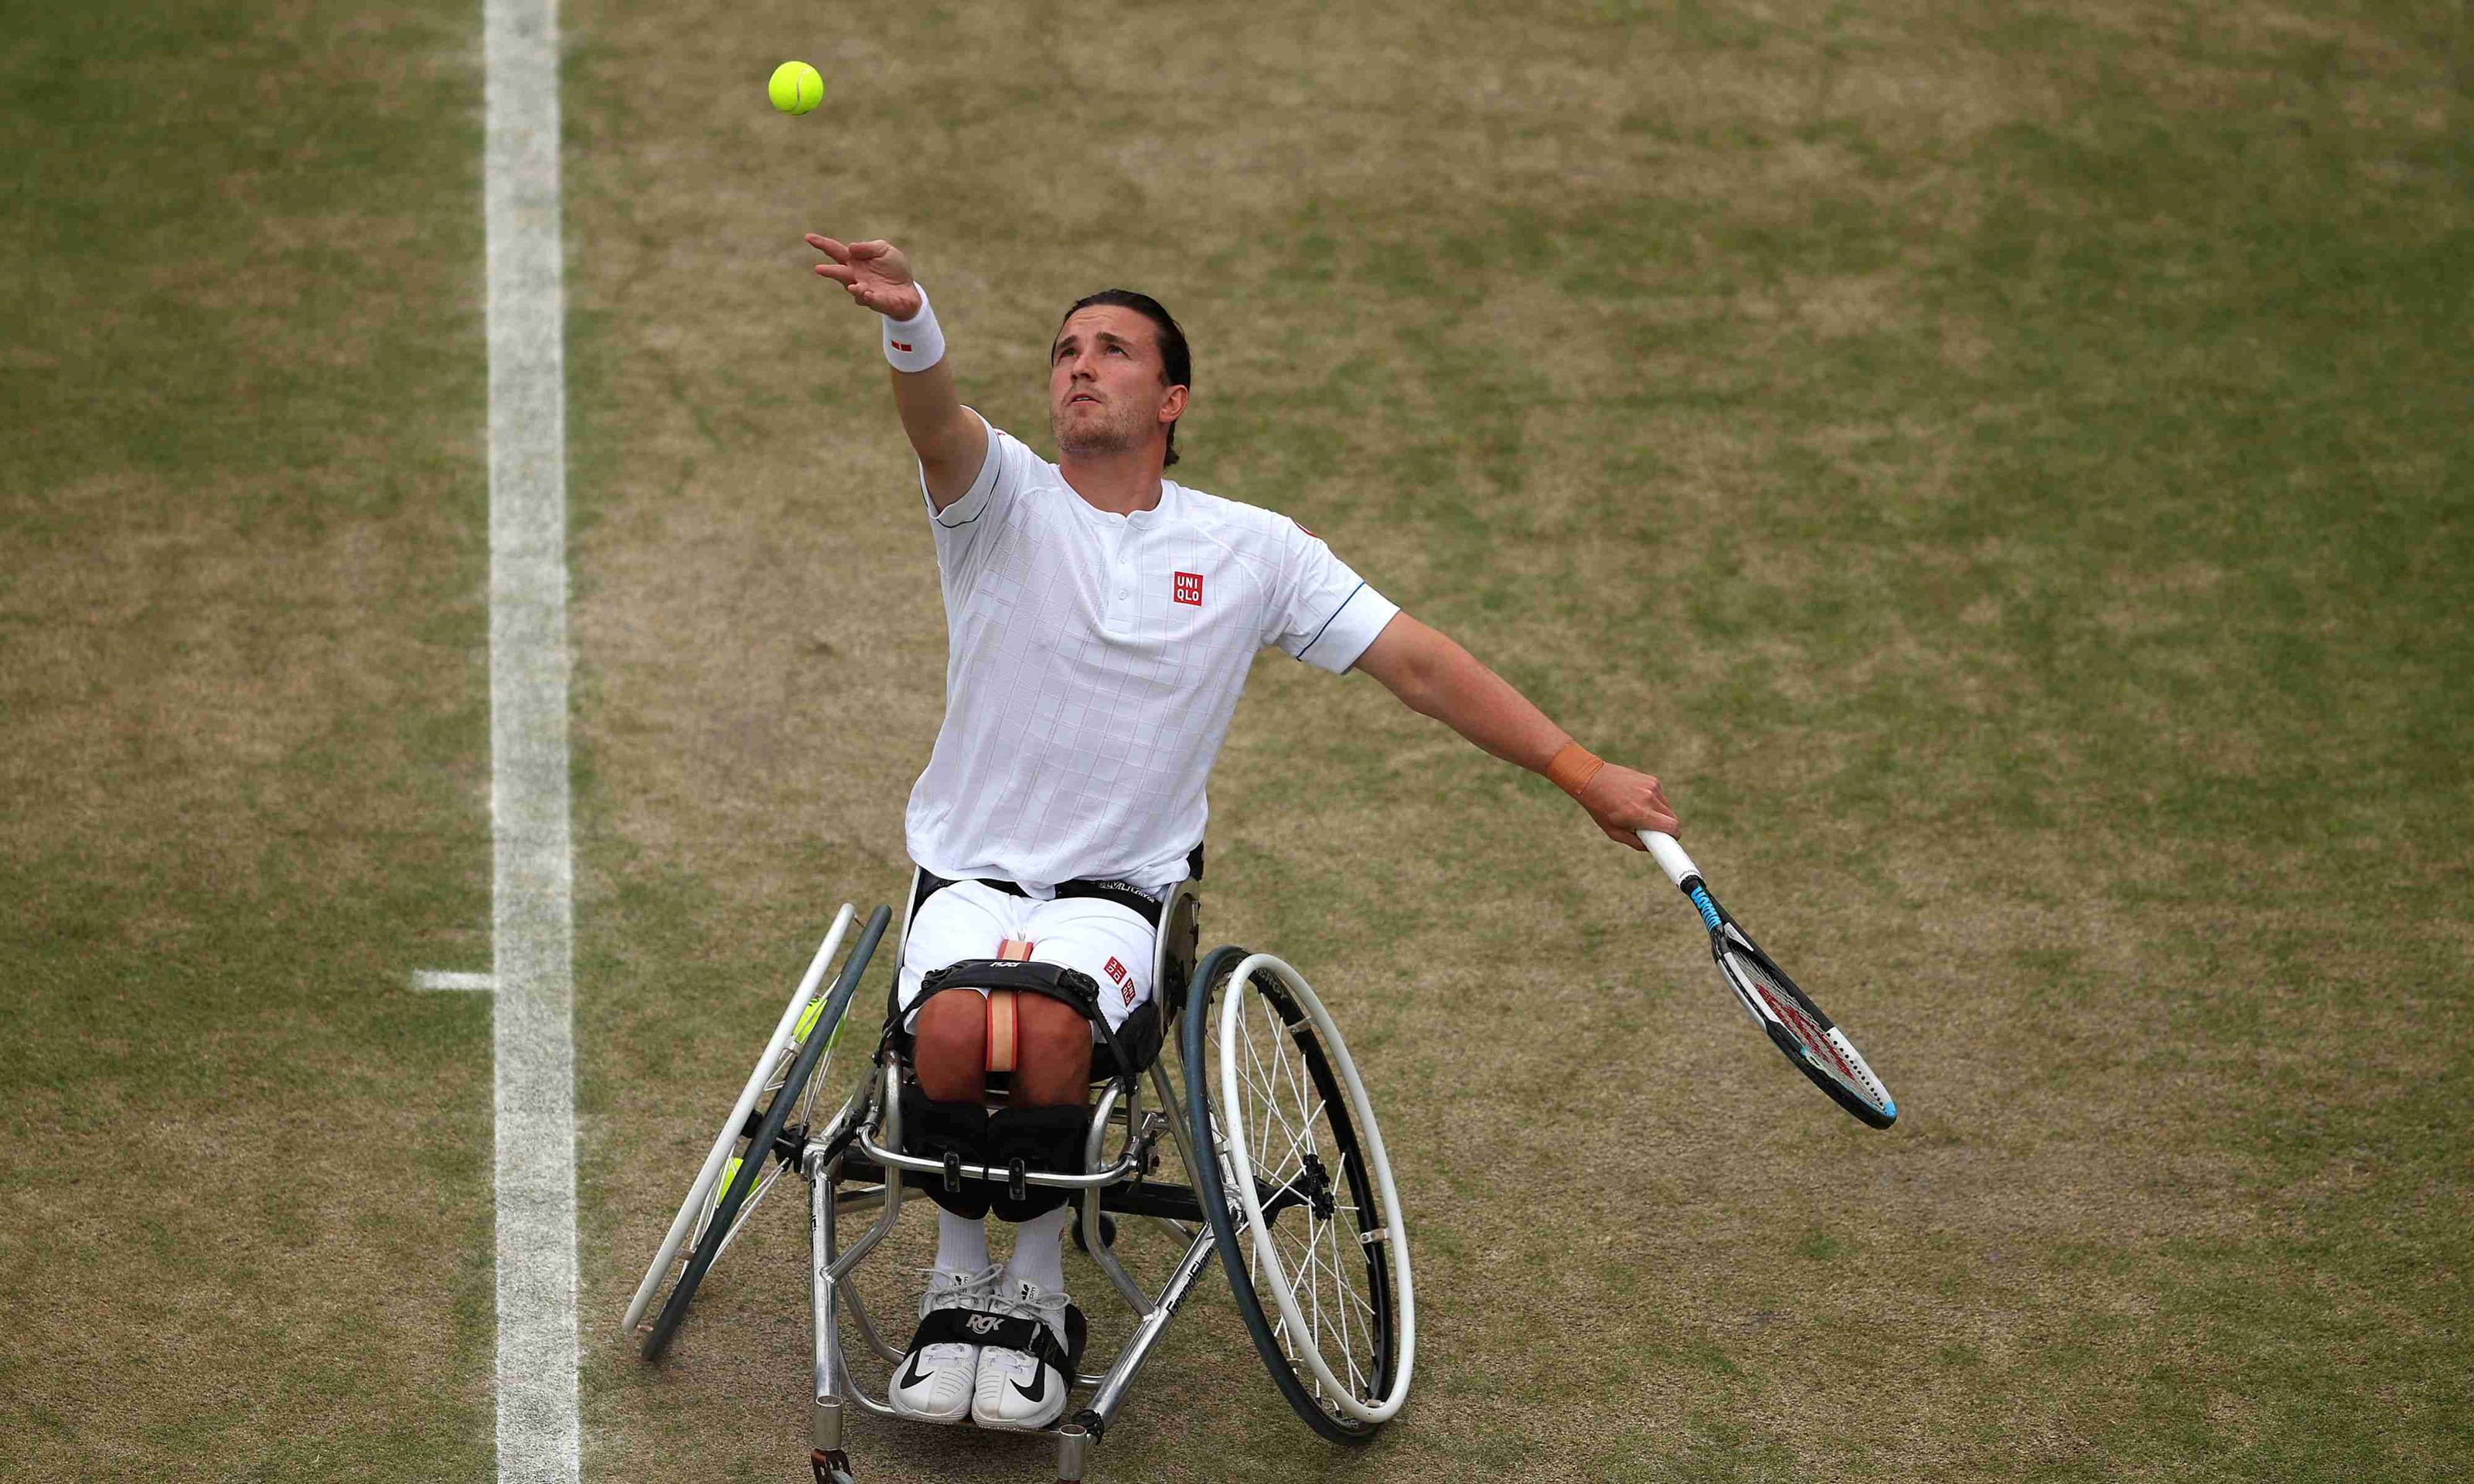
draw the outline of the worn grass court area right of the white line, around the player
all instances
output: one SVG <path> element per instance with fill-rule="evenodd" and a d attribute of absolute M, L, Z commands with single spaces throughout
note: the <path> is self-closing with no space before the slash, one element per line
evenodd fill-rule
<path fill-rule="evenodd" d="M 1804 1088 L 1551 789 L 1267 660 L 1205 937 L 1366 1044 L 1420 1385 L 1329 1454 L 1197 1301 L 1108 1477 L 2464 1454 L 2454 12 L 703 20 L 569 17 L 586 1271 L 651 1247 L 799 937 L 898 890 L 933 566 L 871 324 L 797 242 L 891 235 L 1042 445 L 1059 307 L 1168 299 L 1180 475 L 1663 772 L 1907 1106 Z M 762 109 L 779 57 L 811 119 Z M 764 1237 L 670 1365 L 594 1350 L 591 1467 L 794 1477 Z"/>

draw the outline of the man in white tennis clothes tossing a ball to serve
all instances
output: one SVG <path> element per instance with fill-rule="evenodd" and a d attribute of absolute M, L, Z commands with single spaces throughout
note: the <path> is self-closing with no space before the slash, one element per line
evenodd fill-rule
<path fill-rule="evenodd" d="M 1457 643 L 1385 601 L 1289 517 L 1188 490 L 1178 418 L 1185 331 L 1148 294 L 1066 309 L 1049 346 L 1056 463 L 962 406 L 928 294 L 891 242 L 807 237 L 821 277 L 873 309 L 893 403 L 920 463 L 945 591 L 945 722 L 910 789 L 920 866 L 896 997 L 930 1125 L 1081 1158 L 1094 1026 L 1037 994 L 925 994 L 960 960 L 1079 972 L 1111 1029 L 1150 999 L 1163 893 L 1200 868 L 1205 779 L 1262 646 L 1366 670 L 1408 707 L 1546 774 L 1608 838 L 1675 834 L 1658 779 L 1606 764 Z M 980 1111 L 985 1073 L 1012 1073 Z M 945 1120 L 945 1123 L 938 1123 Z M 977 1160 L 970 1160 L 977 1162 Z M 1066 1192 L 943 1190 L 920 1328 L 893 1407 L 930 1422 L 1047 1427 L 1066 1405 L 1081 1316 L 1064 1291 Z M 1004 1266 L 987 1212 L 1014 1222 Z M 1032 1321 L 1029 1348 L 982 1345 L 985 1316 Z M 980 1318 L 980 1323 L 972 1323 Z"/>

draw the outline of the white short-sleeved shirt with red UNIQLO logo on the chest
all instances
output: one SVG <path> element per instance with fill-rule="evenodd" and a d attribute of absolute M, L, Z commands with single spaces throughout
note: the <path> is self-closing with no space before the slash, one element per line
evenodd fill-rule
<path fill-rule="evenodd" d="M 1254 650 L 1341 673 L 1400 611 L 1284 514 L 1168 480 L 1158 507 L 1106 514 L 995 428 L 970 492 L 928 514 L 945 725 L 910 858 L 1034 895 L 1180 881 Z"/>

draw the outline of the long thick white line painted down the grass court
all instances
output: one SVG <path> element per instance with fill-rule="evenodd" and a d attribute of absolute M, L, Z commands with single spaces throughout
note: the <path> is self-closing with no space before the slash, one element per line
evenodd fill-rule
<path fill-rule="evenodd" d="M 571 1484 L 581 1449 L 557 0 L 482 0 L 482 59 L 497 1477 Z"/>

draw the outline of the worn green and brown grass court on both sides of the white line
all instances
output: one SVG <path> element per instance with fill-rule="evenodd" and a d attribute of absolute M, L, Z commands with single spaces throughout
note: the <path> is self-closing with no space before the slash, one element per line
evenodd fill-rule
<path fill-rule="evenodd" d="M 562 25 L 589 1477 L 804 1477 L 792 1214 L 668 1365 L 611 1331 L 940 707 L 802 230 L 913 247 L 1042 448 L 1064 302 L 1168 299 L 1178 472 L 1665 774 L 1905 1106 L 1811 1093 L 1541 782 L 1272 658 L 1205 937 L 1373 1076 L 1418 1392 L 1333 1454 L 1205 1289 L 1098 1477 L 2474 1452 L 2462 10 Z M 482 1477 L 487 1021 L 401 989 L 487 955 L 477 10 L 12 37 L 0 1472 Z"/>

